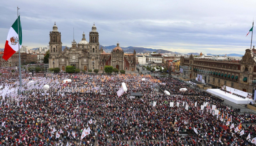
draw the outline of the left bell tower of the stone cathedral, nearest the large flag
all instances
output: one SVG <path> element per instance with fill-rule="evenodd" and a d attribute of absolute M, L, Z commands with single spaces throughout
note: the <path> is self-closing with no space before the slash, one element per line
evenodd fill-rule
<path fill-rule="evenodd" d="M 50 53 L 61 53 L 62 52 L 62 42 L 61 42 L 61 34 L 58 31 L 58 27 L 56 23 L 50 32 L 50 42 L 49 42 L 49 52 Z"/>

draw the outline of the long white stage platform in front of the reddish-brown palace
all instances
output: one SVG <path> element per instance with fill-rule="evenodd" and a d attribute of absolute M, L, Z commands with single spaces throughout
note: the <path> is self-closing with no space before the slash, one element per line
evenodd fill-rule
<path fill-rule="evenodd" d="M 223 99 L 226 99 L 233 103 L 236 103 L 236 104 L 249 104 L 250 101 L 252 101 L 252 103 L 253 103 L 252 99 L 248 99 L 248 98 L 243 99 L 243 98 L 237 97 L 235 95 L 229 94 L 227 92 L 225 93 L 225 92 L 221 91 L 220 89 L 207 89 L 206 91 L 209 93 L 212 93 L 214 95 L 217 95 L 219 97 L 222 97 Z"/>

